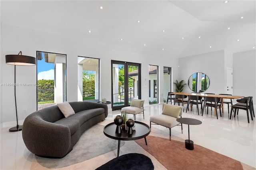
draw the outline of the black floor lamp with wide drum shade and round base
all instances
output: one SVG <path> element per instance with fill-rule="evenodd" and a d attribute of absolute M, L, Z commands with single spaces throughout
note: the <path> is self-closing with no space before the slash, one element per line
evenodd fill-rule
<path fill-rule="evenodd" d="M 16 132 L 16 131 L 22 130 L 22 125 L 18 125 L 18 114 L 17 114 L 17 105 L 16 105 L 16 65 L 34 66 L 36 65 L 36 58 L 22 55 L 22 52 L 20 51 L 18 55 L 6 55 L 5 60 L 6 60 L 6 64 L 14 65 L 14 98 L 15 98 L 17 126 L 9 129 L 9 132 Z"/>

